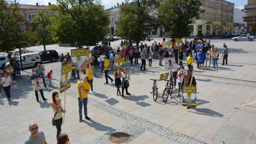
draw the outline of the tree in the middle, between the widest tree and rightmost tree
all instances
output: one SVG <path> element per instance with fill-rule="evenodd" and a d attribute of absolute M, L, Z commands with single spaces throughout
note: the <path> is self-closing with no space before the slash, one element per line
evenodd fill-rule
<path fill-rule="evenodd" d="M 157 18 L 150 13 L 158 6 L 159 0 L 126 0 L 120 6 L 121 17 L 117 34 L 136 45 L 150 40 L 147 36 L 148 29 L 158 26 Z"/>

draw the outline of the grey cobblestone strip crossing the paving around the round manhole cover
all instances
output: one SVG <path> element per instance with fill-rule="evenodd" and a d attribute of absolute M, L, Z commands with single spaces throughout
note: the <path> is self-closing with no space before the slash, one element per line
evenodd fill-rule
<path fill-rule="evenodd" d="M 77 92 L 67 90 L 67 94 L 73 96 L 74 98 L 77 98 Z M 199 140 L 183 135 L 181 133 L 177 133 L 164 126 L 157 125 L 155 123 L 147 121 L 146 119 L 128 114 L 122 110 L 103 104 L 95 99 L 88 98 L 88 103 L 96 108 L 101 108 L 109 112 L 113 116 L 122 118 L 127 122 L 124 125 L 119 126 L 116 131 L 96 138 L 94 140 L 96 144 L 112 144 L 108 138 L 112 133 L 115 132 L 127 132 L 129 135 L 131 135 L 131 138 L 129 139 L 129 141 L 131 141 L 135 139 L 137 136 L 146 132 L 147 130 L 150 130 L 151 132 L 154 132 L 157 135 L 164 136 L 178 144 L 205 144 Z"/>

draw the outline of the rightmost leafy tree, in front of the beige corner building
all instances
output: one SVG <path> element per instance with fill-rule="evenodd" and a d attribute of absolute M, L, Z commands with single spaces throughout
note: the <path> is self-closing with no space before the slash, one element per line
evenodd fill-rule
<path fill-rule="evenodd" d="M 193 18 L 204 12 L 200 0 L 160 0 L 160 24 L 165 27 L 165 32 L 176 38 L 189 36 Z"/>

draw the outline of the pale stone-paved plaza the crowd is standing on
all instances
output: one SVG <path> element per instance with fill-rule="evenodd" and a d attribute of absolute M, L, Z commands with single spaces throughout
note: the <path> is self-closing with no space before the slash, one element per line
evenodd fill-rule
<path fill-rule="evenodd" d="M 154 40 L 157 43 L 162 41 L 160 38 Z M 147 45 L 151 46 L 154 40 L 146 42 Z M 117 49 L 119 43 L 112 42 L 111 46 Z M 153 100 L 150 93 L 153 81 L 149 79 L 159 79 L 161 73 L 167 72 L 165 67 L 158 66 L 158 60 L 153 60 L 151 68 L 146 65 L 146 71 L 140 71 L 140 65 L 130 67 L 127 63 L 126 68 L 133 71 L 128 88 L 131 96 L 123 98 L 116 95 L 114 83 L 103 84 L 105 77 L 97 66 L 97 76 L 93 78 L 94 93 L 90 91 L 88 95 L 91 120 L 83 117 L 82 123 L 78 121 L 77 80 L 73 80 L 71 88 L 66 91 L 63 132 L 69 135 L 71 144 L 112 144 L 109 136 L 115 132 L 128 133 L 131 136 L 128 144 L 219 144 L 221 141 L 256 144 L 256 103 L 235 108 L 256 101 L 256 41 L 214 39 L 211 44 L 219 48 L 220 57 L 223 43 L 229 48 L 228 66 L 222 66 L 222 60 L 219 60 L 218 70 L 212 67 L 198 70 L 194 63 L 196 108 L 182 106 L 182 99 L 176 97 L 177 89 L 174 98 L 164 103 L 161 96 L 165 81 L 158 82 L 160 98 Z M 65 54 L 73 48 L 47 45 L 46 49 Z M 43 47 L 34 46 L 27 50 L 41 51 Z M 23 144 L 30 134 L 30 122 L 37 122 L 48 144 L 56 144 L 50 103 L 52 93 L 59 91 L 61 64 L 56 61 L 43 65 L 46 72 L 53 70 L 54 87 L 44 90 L 47 101 L 36 101 L 30 83 L 32 68 L 25 69 L 22 76 L 15 79 L 10 101 L 5 95 L 0 96 L 0 144 Z M 183 65 L 187 69 L 186 61 Z M 113 71 L 110 76 L 113 78 Z M 64 93 L 60 97 L 64 105 Z"/>

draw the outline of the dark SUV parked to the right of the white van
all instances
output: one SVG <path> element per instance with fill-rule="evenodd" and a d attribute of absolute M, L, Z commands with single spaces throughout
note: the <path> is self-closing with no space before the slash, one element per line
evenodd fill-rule
<path fill-rule="evenodd" d="M 59 54 L 55 50 L 46 50 L 39 52 L 42 62 L 52 61 L 55 62 L 59 59 Z"/>

